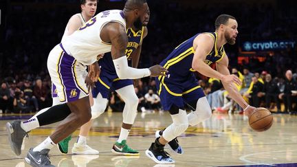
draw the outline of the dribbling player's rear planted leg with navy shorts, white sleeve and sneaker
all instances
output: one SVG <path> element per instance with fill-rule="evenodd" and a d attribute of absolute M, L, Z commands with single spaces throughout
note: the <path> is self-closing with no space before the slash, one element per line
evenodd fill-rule
<path fill-rule="evenodd" d="M 156 80 L 158 83 L 158 80 Z M 184 110 L 184 99 L 182 89 L 175 85 L 166 85 L 167 89 L 161 85 L 158 87 L 159 97 L 165 111 L 169 111 L 173 123 L 170 124 L 162 133 L 156 133 L 155 142 L 146 150 L 146 155 L 158 164 L 173 164 L 175 161 L 164 151 L 164 146 L 174 140 L 178 135 L 184 133 L 188 128 L 188 118 Z M 161 90 L 161 91 L 160 91 Z M 181 150 L 182 153 L 182 150 Z"/>

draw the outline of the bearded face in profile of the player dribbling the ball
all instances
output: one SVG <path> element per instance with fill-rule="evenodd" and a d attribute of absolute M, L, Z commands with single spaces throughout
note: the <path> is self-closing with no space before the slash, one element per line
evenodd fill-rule
<path fill-rule="evenodd" d="M 227 43 L 229 43 L 231 45 L 235 44 L 236 36 L 239 33 L 237 30 L 237 26 L 238 26 L 237 21 L 234 19 L 229 19 L 227 25 L 224 25 L 225 39 L 226 39 Z"/>

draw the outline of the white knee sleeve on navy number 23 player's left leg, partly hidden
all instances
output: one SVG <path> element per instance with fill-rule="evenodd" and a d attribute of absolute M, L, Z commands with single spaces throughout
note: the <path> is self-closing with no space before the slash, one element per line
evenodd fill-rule
<path fill-rule="evenodd" d="M 100 93 L 97 98 L 94 98 L 94 104 L 91 106 L 91 120 L 98 118 L 102 113 L 104 113 L 107 103 L 107 98 L 102 98 Z"/>

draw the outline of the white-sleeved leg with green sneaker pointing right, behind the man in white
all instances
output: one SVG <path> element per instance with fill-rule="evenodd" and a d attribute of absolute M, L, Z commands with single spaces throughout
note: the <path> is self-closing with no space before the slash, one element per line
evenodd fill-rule
<path fill-rule="evenodd" d="M 119 80 L 119 82 L 129 82 L 131 80 Z M 126 144 L 127 137 L 131 131 L 137 114 L 138 98 L 136 96 L 133 85 L 128 85 L 117 89 L 116 92 L 120 95 L 125 102 L 124 111 L 122 114 L 123 122 L 118 141 L 113 144 L 111 151 L 119 155 L 139 155 L 138 151 L 133 150 Z"/>

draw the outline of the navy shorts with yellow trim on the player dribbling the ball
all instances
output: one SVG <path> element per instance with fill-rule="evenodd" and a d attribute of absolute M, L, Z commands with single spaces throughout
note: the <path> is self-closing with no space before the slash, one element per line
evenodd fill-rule
<path fill-rule="evenodd" d="M 157 93 L 165 111 L 169 111 L 173 104 L 179 109 L 184 109 L 187 103 L 205 96 L 203 89 L 198 85 L 194 77 L 185 82 L 160 82 L 157 77 L 155 80 Z"/>

